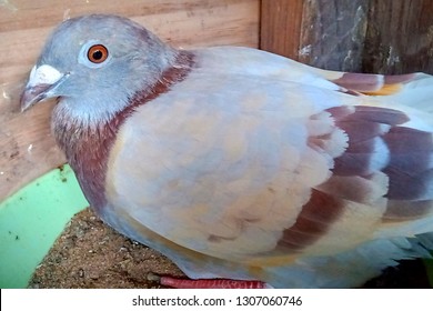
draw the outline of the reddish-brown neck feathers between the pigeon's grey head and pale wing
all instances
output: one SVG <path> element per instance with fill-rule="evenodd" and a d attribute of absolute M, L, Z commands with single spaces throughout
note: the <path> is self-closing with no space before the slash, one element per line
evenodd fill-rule
<path fill-rule="evenodd" d="M 95 129 L 82 128 L 70 121 L 69 116 L 53 116 L 52 122 L 57 142 L 75 172 L 85 198 L 97 212 L 100 212 L 107 204 L 104 190 L 107 163 L 120 127 L 139 106 L 168 92 L 173 84 L 184 80 L 193 63 L 193 54 L 181 51 L 175 66 L 165 70 L 161 79 L 150 90 L 138 92 L 125 109 Z"/>

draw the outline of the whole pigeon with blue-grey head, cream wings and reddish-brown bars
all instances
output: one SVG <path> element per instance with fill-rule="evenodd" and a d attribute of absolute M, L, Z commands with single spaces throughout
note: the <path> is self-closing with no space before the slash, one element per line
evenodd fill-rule
<path fill-rule="evenodd" d="M 354 288 L 429 257 L 432 76 L 177 49 L 90 14 L 53 30 L 21 109 L 50 98 L 91 208 L 190 287 Z"/>

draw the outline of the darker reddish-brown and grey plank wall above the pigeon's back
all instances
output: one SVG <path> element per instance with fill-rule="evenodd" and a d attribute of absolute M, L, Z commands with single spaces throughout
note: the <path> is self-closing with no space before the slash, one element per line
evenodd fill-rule
<path fill-rule="evenodd" d="M 431 0 L 262 0 L 261 48 L 332 70 L 433 73 Z"/>

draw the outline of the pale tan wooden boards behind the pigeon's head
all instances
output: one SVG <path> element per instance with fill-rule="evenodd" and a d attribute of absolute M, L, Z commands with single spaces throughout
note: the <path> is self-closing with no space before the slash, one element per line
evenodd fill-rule
<path fill-rule="evenodd" d="M 130 17 L 173 46 L 258 47 L 259 0 L 0 1 L 0 201 L 64 162 L 51 137 L 52 102 L 19 112 L 19 97 L 44 39 L 84 13 Z"/>

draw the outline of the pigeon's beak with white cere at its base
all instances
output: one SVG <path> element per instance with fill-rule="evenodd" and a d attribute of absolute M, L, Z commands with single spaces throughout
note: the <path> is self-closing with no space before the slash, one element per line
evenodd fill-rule
<path fill-rule="evenodd" d="M 21 94 L 21 112 L 46 98 L 56 97 L 56 93 L 53 92 L 54 89 L 59 87 L 68 76 L 69 73 L 62 74 L 49 64 L 42 64 L 40 67 L 34 66 L 30 72 L 26 89 Z"/>

